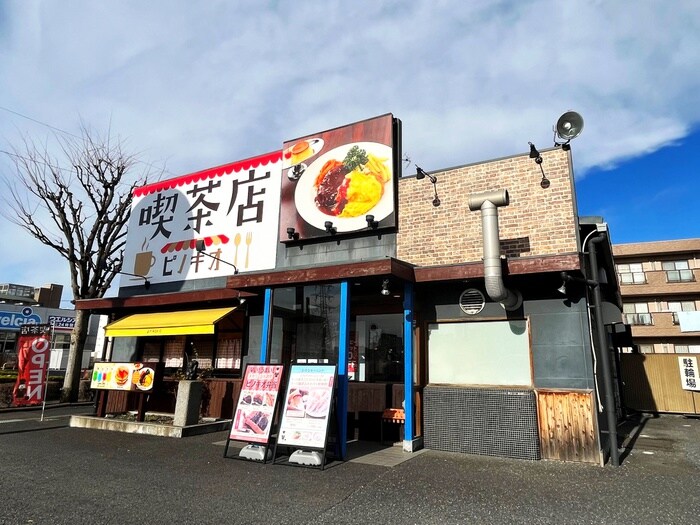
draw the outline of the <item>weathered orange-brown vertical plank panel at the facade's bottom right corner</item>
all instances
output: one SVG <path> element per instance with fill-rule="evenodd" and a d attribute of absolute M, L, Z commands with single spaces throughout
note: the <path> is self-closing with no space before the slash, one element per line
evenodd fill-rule
<path fill-rule="evenodd" d="M 540 453 L 543 459 L 600 462 L 591 391 L 537 392 Z"/>

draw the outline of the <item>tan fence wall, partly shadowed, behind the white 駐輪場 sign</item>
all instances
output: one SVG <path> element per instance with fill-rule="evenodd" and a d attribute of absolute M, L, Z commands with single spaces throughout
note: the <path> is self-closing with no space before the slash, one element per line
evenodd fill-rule
<path fill-rule="evenodd" d="M 622 354 L 625 406 L 642 412 L 700 413 L 700 392 L 681 388 L 678 358 L 700 354 Z"/>

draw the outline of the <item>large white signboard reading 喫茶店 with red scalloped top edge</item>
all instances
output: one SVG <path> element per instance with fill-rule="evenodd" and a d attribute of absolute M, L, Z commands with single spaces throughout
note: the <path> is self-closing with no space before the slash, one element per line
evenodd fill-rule
<path fill-rule="evenodd" d="M 137 188 L 122 269 L 159 283 L 274 268 L 281 158 L 274 152 Z M 143 282 L 125 275 L 121 286 Z"/>

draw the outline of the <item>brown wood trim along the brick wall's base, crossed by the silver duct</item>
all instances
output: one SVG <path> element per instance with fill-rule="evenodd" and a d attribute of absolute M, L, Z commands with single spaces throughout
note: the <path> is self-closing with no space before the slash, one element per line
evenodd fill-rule
<path fill-rule="evenodd" d="M 581 256 L 578 253 L 545 257 L 522 257 L 504 260 L 504 275 L 519 275 L 543 272 L 580 270 Z M 453 281 L 484 276 L 484 264 L 472 262 L 450 266 L 429 266 L 415 268 L 416 282 Z"/>

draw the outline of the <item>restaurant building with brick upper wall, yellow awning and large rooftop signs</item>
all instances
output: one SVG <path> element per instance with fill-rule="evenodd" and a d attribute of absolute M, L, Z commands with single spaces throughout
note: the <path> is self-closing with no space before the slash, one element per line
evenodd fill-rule
<path fill-rule="evenodd" d="M 400 152 L 383 115 L 139 188 L 123 268 L 143 277 L 76 307 L 110 315 L 109 360 L 161 364 L 152 407 L 193 358 L 224 418 L 246 363 L 330 363 L 347 439 L 403 408 L 407 451 L 615 456 L 619 289 L 571 152 L 406 176 Z"/>

